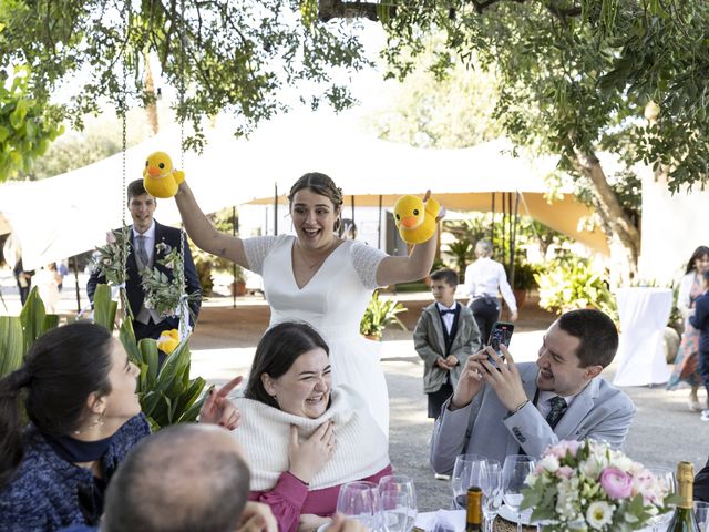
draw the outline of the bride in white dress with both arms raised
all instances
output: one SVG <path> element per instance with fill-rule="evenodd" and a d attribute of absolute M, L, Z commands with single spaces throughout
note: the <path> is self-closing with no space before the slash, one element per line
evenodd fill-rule
<path fill-rule="evenodd" d="M 290 188 L 296 236 L 242 239 L 219 233 L 201 211 L 187 183 L 179 185 L 175 200 L 198 247 L 264 277 L 270 326 L 302 320 L 323 336 L 330 346 L 333 386 L 347 383 L 358 390 L 388 436 L 384 374 L 378 349 L 360 336 L 359 323 L 374 288 L 429 274 L 435 234 L 414 246 L 408 257 L 392 257 L 362 242 L 339 238 L 342 193 L 320 173 L 304 175 Z"/>

